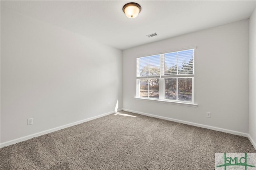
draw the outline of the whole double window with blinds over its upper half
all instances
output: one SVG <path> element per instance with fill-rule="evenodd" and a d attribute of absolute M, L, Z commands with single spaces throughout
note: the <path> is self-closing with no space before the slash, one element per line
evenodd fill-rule
<path fill-rule="evenodd" d="M 194 103 L 194 49 L 137 58 L 137 98 Z"/>

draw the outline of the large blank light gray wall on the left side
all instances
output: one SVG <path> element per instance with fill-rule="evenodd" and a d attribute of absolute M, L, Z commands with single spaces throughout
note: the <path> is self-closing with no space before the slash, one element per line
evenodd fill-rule
<path fill-rule="evenodd" d="M 1 143 L 114 111 L 117 101 L 122 108 L 122 51 L 1 7 Z"/>

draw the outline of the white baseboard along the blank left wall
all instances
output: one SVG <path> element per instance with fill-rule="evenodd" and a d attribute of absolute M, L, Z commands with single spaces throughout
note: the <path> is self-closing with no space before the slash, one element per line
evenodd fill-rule
<path fill-rule="evenodd" d="M 118 109 L 118 111 L 121 111 L 121 110 L 122 109 Z M 69 124 L 66 124 L 66 125 L 62 125 L 62 126 L 59 126 L 59 127 L 55 127 L 55 128 L 52 128 L 52 129 L 48 129 L 46 131 L 34 133 L 32 135 L 28 135 L 28 136 L 25 136 L 25 137 L 20 137 L 20 138 L 17 138 L 17 139 L 13 139 L 11 141 L 7 141 L 7 142 L 4 142 L 4 143 L 1 143 L 0 144 L 0 148 L 6 147 L 6 146 L 9 146 L 9 145 L 13 145 L 15 143 L 19 143 L 19 142 L 22 142 L 22 141 L 26 141 L 28 139 L 32 139 L 33 137 L 38 137 L 38 136 L 41 136 L 41 135 L 45 135 L 47 133 L 51 133 L 51 132 L 54 132 L 54 131 L 65 129 L 67 127 L 78 125 L 78 124 L 84 123 L 86 121 L 90 121 L 90 120 L 97 119 L 97 118 L 100 118 L 100 117 L 103 117 L 103 116 L 106 116 L 106 115 L 110 115 L 112 113 L 115 113 L 115 111 L 110 111 L 108 113 L 104 113 L 104 114 L 101 114 L 101 115 L 98 115 L 98 116 L 90 117 L 90 118 L 87 118 L 87 119 L 84 119 L 84 120 L 80 120 L 80 121 L 76 121 L 76 122 L 69 123 Z"/>

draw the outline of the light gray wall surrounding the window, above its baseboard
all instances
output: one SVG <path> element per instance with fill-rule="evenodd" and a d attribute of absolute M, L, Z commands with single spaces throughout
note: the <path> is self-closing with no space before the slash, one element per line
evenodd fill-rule
<path fill-rule="evenodd" d="M 248 133 L 248 39 L 249 20 L 242 20 L 124 50 L 123 108 Z M 194 45 L 198 107 L 134 99 L 136 57 Z"/>

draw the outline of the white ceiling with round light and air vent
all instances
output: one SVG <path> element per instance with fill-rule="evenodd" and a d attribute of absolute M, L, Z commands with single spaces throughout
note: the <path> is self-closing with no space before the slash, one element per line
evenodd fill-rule
<path fill-rule="evenodd" d="M 122 12 L 128 2 L 141 5 L 139 16 Z M 138 45 L 247 19 L 251 1 L 2 1 L 1 7 L 84 35 L 101 43 L 128 49 Z M 148 38 L 150 33 L 157 37 Z"/>

